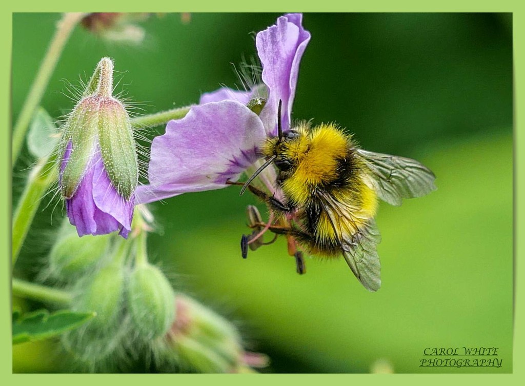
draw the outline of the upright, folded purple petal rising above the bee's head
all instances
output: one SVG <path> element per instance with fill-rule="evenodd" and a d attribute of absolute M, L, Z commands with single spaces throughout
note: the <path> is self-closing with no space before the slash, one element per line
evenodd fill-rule
<path fill-rule="evenodd" d="M 301 14 L 288 14 L 277 24 L 256 37 L 257 53 L 262 63 L 262 81 L 268 86 L 269 98 L 260 117 L 268 134 L 277 134 L 277 107 L 282 100 L 282 128 L 290 127 L 299 63 L 310 41 L 310 33 L 302 27 Z"/>

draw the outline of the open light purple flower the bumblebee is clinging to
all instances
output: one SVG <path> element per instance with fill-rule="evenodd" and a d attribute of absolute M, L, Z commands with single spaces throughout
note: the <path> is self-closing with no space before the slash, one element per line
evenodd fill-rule
<path fill-rule="evenodd" d="M 201 97 L 181 120 L 170 121 L 153 140 L 148 170 L 150 185 L 137 190 L 137 201 L 158 201 L 181 193 L 220 189 L 237 181 L 253 165 L 268 135 L 277 134 L 282 100 L 282 127 L 290 126 L 299 62 L 310 40 L 301 14 L 288 14 L 256 37 L 262 81 L 251 90 L 220 88 Z M 262 86 L 262 87 L 261 87 Z M 254 98 L 266 103 L 256 114 L 247 107 Z"/>

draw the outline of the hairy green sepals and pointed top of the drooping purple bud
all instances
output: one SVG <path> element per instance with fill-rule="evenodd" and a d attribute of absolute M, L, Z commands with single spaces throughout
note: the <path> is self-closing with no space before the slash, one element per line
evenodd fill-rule
<path fill-rule="evenodd" d="M 113 186 L 124 199 L 131 195 L 138 183 L 137 146 L 127 106 L 113 97 L 113 60 L 110 58 L 100 60 L 62 126 L 60 160 L 64 160 L 69 143 L 67 164 L 61 166 L 65 198 L 75 194 L 97 144 Z"/>

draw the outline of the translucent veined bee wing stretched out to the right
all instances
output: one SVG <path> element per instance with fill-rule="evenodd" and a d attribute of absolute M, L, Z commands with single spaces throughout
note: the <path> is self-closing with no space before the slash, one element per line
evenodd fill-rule
<path fill-rule="evenodd" d="M 380 199 L 401 205 L 401 199 L 424 196 L 434 190 L 436 176 L 416 160 L 359 149 L 372 171 L 372 184 Z"/>

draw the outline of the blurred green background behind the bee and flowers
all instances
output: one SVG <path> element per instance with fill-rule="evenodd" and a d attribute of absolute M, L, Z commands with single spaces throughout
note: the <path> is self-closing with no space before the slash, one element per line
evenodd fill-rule
<path fill-rule="evenodd" d="M 42 105 L 56 118 L 67 112 L 74 101 L 62 80 L 86 79 L 102 56 L 114 58 L 117 91 L 141 112 L 195 103 L 219 84 L 239 85 L 230 63 L 256 56 L 250 33 L 278 16 L 192 14 L 185 24 L 154 15 L 138 46 L 78 28 Z M 13 17 L 15 120 L 59 17 Z M 177 289 L 238 321 L 247 346 L 271 357 L 266 371 L 369 372 L 386 361 L 395 372 L 510 372 L 511 15 L 305 14 L 303 25 L 312 39 L 293 117 L 336 121 L 363 148 L 415 158 L 437 175 L 429 196 L 381 204 L 382 288 L 363 289 L 342 259 L 308 259 L 299 276 L 283 239 L 241 259 L 245 207 L 256 200 L 235 188 L 151 205 L 162 225 L 151 256 Z M 15 166 L 14 204 L 31 161 L 26 153 Z M 46 204 L 18 275 L 37 275 L 53 243 L 64 210 Z M 499 347 L 502 367 L 419 367 L 426 347 L 463 346 Z M 19 345 L 13 369 L 58 371 L 60 355 L 53 342 Z"/>

